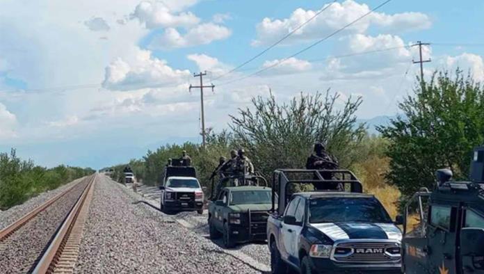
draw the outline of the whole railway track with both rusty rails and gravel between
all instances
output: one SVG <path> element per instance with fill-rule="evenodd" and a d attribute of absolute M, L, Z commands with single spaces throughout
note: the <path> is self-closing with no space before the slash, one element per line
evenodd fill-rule
<path fill-rule="evenodd" d="M 72 273 L 96 175 L 0 231 L 0 272 Z"/>

